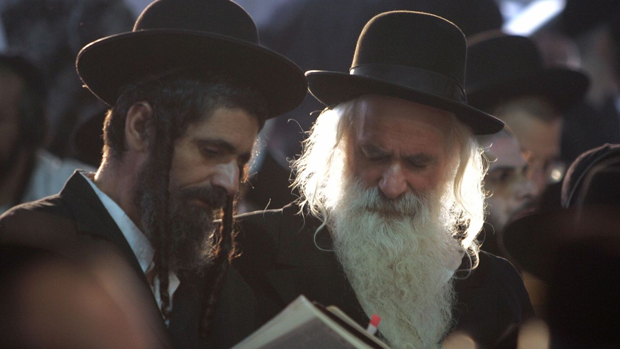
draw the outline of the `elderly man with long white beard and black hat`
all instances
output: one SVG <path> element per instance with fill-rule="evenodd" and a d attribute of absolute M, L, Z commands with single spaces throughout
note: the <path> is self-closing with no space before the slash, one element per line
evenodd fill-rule
<path fill-rule="evenodd" d="M 467 105 L 465 57 L 448 20 L 394 11 L 366 24 L 350 73 L 306 73 L 328 107 L 293 162 L 301 197 L 239 217 L 234 266 L 254 289 L 257 325 L 304 294 L 363 327 L 378 314 L 393 348 L 440 347 L 454 331 L 482 348 L 516 346 L 528 294 L 476 240 L 484 165 L 474 135 L 503 123 Z"/>

